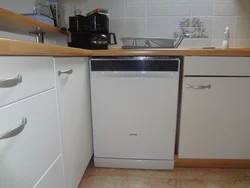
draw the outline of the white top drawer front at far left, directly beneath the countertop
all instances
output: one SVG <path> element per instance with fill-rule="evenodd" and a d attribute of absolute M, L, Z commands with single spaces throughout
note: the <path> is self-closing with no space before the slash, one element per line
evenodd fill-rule
<path fill-rule="evenodd" d="M 12 79 L 7 88 L 3 88 L 4 79 Z M 0 57 L 0 107 L 53 88 L 54 80 L 51 57 Z"/>

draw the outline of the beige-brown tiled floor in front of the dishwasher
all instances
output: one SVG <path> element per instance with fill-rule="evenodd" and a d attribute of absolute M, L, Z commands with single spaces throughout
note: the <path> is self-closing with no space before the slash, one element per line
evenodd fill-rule
<path fill-rule="evenodd" d="M 152 171 L 89 165 L 79 188 L 250 188 L 250 169 Z"/>

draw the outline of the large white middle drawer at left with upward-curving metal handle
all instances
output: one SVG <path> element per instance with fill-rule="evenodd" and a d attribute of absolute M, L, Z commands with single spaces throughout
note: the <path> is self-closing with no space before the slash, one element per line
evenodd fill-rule
<path fill-rule="evenodd" d="M 17 136 L 0 140 L 4 188 L 31 188 L 61 153 L 55 89 L 0 108 L 0 135 L 27 124 Z"/>

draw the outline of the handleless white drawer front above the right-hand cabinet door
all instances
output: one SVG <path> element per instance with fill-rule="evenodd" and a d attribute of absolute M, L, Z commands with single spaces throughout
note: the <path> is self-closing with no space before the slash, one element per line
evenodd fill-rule
<path fill-rule="evenodd" d="M 250 57 L 185 57 L 184 75 L 250 76 Z"/>

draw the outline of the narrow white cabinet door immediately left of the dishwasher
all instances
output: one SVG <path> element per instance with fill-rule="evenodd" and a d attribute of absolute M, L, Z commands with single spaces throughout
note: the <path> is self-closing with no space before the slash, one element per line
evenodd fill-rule
<path fill-rule="evenodd" d="M 88 58 L 56 58 L 55 66 L 66 187 L 76 188 L 93 154 Z"/>

